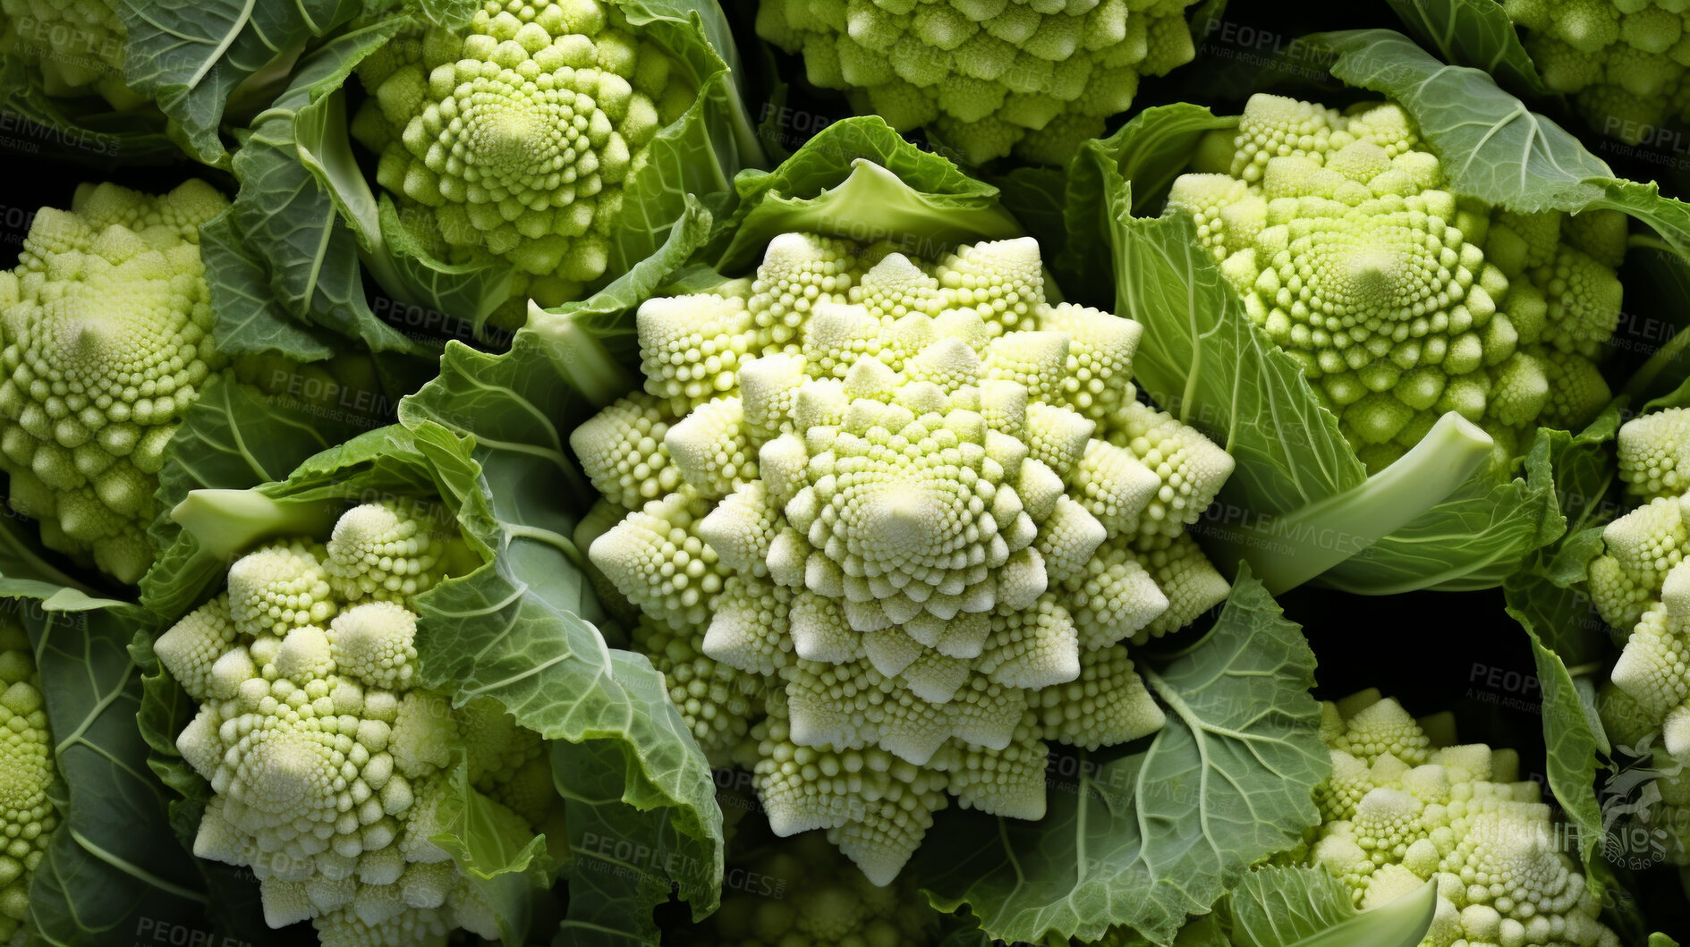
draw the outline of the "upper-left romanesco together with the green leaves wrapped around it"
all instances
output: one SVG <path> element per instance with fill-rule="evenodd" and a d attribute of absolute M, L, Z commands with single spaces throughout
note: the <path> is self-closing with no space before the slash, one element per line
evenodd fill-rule
<path fill-rule="evenodd" d="M 532 204 L 521 228 L 500 218 L 500 204 L 480 184 L 468 189 L 451 176 L 439 184 L 443 165 L 429 170 L 422 164 L 426 142 L 414 142 L 419 150 L 412 155 L 402 135 L 411 123 L 417 130 L 424 122 L 439 125 L 443 103 L 424 95 L 434 61 L 422 62 L 421 51 L 446 56 L 443 44 L 461 46 L 475 30 L 504 30 L 488 25 L 499 10 L 497 3 L 451 12 L 395 8 L 338 35 L 294 69 L 287 91 L 257 118 L 235 162 L 242 192 L 235 201 L 232 246 L 233 257 L 245 263 L 230 267 L 223 279 L 230 287 L 260 279 L 274 295 L 265 312 L 242 327 L 243 344 L 297 344 L 304 341 L 301 334 L 321 343 L 323 333 L 353 334 L 377 349 L 416 349 L 419 339 L 455 333 L 502 341 L 522 322 L 529 297 L 548 306 L 578 300 L 656 253 L 690 204 L 711 214 L 728 209 L 728 179 L 742 164 L 760 160 L 760 152 L 733 84 L 737 56 L 723 14 L 713 2 L 700 0 L 583 7 L 588 14 L 581 14 L 578 32 L 559 25 L 576 22 L 563 7 L 556 15 L 541 17 L 544 5 L 527 14 L 559 30 L 546 44 L 536 39 L 539 34 L 524 34 L 539 56 L 529 66 L 544 61 L 548 69 L 561 69 L 556 81 L 564 81 L 564 73 L 575 76 L 573 66 L 586 64 L 570 59 L 583 54 L 573 41 L 586 41 L 590 54 L 595 42 L 590 35 L 600 29 L 608 30 L 597 41 L 605 44 L 603 62 L 624 62 L 632 73 L 637 52 L 647 64 L 627 79 L 605 71 L 605 88 L 583 93 L 578 105 L 585 111 L 580 116 L 571 111 L 563 125 L 558 110 L 570 106 L 558 96 L 575 95 L 563 88 L 529 95 L 519 91 L 526 81 L 521 79 L 510 86 L 515 98 L 499 100 L 504 105 L 475 100 L 488 101 L 487 111 L 463 100 L 468 111 L 458 125 L 470 128 L 472 137 L 451 147 L 461 150 L 472 140 L 480 142 L 483 125 L 492 128 L 488 140 L 504 140 L 499 135 L 505 132 L 514 135 L 510 142 L 521 140 L 510 145 L 521 152 L 514 164 L 499 157 L 505 152 L 497 149 L 475 159 L 488 174 L 514 176 L 500 177 L 493 187 L 514 189 L 509 192 L 521 192 Z M 434 24 L 431 15 L 458 25 Z M 544 32 L 539 20 L 529 25 Z M 468 51 L 463 62 L 495 42 L 492 34 L 482 34 L 463 47 Z M 460 62 L 456 56 L 450 59 Z M 353 69 L 372 96 L 363 111 L 348 116 L 343 86 Z M 507 79 L 515 74 L 507 71 Z M 588 69 L 581 81 L 598 81 L 597 76 L 597 69 Z M 630 89 L 630 81 L 641 89 Z M 468 78 L 455 83 L 446 98 L 468 96 L 472 84 Z M 598 98 L 607 103 L 605 111 L 593 106 Z M 592 115 L 610 125 L 593 125 L 588 132 Z M 576 133 L 575 125 L 583 135 L 580 154 L 586 155 L 578 165 L 576 147 L 563 138 Z M 559 137 L 553 140 L 546 128 L 556 128 Z M 358 167 L 348 130 L 380 152 L 379 191 Z M 443 149 L 436 149 L 436 157 L 446 154 Z M 526 169 L 544 174 L 524 181 Z M 512 201 L 517 198 L 505 199 L 507 211 L 517 206 Z M 220 272 L 215 268 L 213 277 Z M 372 311 L 362 297 L 365 272 L 382 289 L 380 311 Z M 488 329 L 490 319 L 497 331 Z M 407 322 L 414 324 L 409 333 L 414 338 L 390 327 Z"/>

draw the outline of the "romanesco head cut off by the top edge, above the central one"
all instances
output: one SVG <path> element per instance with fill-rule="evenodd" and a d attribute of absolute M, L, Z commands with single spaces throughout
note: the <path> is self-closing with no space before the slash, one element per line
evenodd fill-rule
<path fill-rule="evenodd" d="M 757 32 L 859 113 L 930 127 L 973 164 L 1063 164 L 1132 105 L 1139 76 L 1191 61 L 1193 2 L 762 0 Z"/>

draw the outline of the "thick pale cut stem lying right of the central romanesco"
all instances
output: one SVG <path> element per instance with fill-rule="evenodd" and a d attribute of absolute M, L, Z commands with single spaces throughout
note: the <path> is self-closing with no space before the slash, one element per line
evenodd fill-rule
<path fill-rule="evenodd" d="M 1295 589 L 1436 506 L 1489 457 L 1479 425 L 1445 414 L 1389 468 L 1354 490 L 1286 513 L 1246 513 L 1215 530 L 1222 562 L 1244 560 L 1269 593 Z"/>

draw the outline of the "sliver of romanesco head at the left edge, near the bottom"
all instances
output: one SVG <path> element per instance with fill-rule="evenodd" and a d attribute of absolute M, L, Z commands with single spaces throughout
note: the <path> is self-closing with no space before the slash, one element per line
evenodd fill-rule
<path fill-rule="evenodd" d="M 35 655 L 24 630 L 0 620 L 0 944 L 24 923 L 29 879 L 59 824 L 56 778 Z"/>

